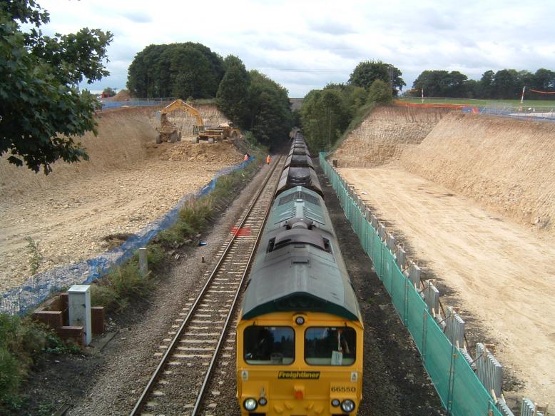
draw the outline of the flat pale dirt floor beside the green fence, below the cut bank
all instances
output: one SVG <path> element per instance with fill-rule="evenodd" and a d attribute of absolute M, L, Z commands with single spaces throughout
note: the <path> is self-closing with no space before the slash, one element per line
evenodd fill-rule
<path fill-rule="evenodd" d="M 494 340 L 505 370 L 526 380 L 514 398 L 555 402 L 555 249 L 523 225 L 411 173 L 339 171 L 378 218 L 392 223 L 388 229 L 402 230 L 440 293 L 457 292 L 457 310 Z"/>

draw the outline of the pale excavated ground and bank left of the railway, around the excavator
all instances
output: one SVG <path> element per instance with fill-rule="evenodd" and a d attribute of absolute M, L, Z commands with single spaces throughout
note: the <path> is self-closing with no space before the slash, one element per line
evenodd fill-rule
<path fill-rule="evenodd" d="M 208 110 L 207 118 L 218 116 Z M 27 236 L 39 242 L 39 271 L 91 258 L 105 250 L 107 235 L 135 233 L 243 160 L 225 142 L 156 145 L 158 123 L 155 108 L 105 111 L 98 137 L 80 139 L 91 160 L 54 163 L 49 176 L 0 158 L 0 293 L 30 277 Z"/>

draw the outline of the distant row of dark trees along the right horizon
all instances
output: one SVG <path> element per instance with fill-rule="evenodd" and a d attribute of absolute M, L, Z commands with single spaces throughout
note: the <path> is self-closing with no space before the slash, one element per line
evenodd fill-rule
<path fill-rule="evenodd" d="M 536 91 L 555 91 L 555 72 L 538 69 L 536 72 L 501 69 L 497 72 L 486 71 L 479 81 L 469 79 L 459 71 L 423 71 L 412 84 L 409 96 L 483 99 L 518 99 L 522 88 L 526 87 L 526 98 L 536 100 L 553 99 L 554 94 L 535 93 Z"/>

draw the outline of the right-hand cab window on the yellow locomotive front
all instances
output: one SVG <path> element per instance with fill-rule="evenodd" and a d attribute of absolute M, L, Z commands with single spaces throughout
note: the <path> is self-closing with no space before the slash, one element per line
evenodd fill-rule
<path fill-rule="evenodd" d="M 305 331 L 305 362 L 308 365 L 352 365 L 357 333 L 348 327 L 312 327 Z"/>

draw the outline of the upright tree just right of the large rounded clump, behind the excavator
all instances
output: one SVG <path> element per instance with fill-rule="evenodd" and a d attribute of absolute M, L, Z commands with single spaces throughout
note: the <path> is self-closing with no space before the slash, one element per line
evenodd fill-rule
<path fill-rule="evenodd" d="M 237 56 L 225 58 L 225 75 L 220 82 L 216 98 L 218 107 L 234 123 L 242 124 L 247 118 L 247 93 L 250 79 L 243 61 Z"/>

